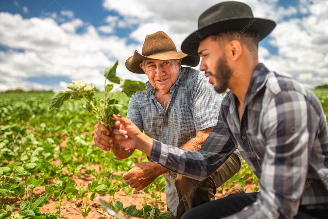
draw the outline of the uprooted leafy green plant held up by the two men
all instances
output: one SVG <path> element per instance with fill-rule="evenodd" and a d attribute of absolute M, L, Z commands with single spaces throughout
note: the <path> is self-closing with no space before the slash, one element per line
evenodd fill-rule
<path fill-rule="evenodd" d="M 86 103 L 83 108 L 87 111 L 94 114 L 94 116 L 101 121 L 105 127 L 109 127 L 114 123 L 113 114 L 118 114 L 120 112 L 119 108 L 122 105 L 117 104 L 119 96 L 113 98 L 113 94 L 107 97 L 110 91 L 113 90 L 113 84 L 107 84 L 106 81 L 109 80 L 112 83 L 120 84 L 123 81 L 120 77 L 116 76 L 116 68 L 118 65 L 118 60 L 116 60 L 115 64 L 105 69 L 105 97 L 104 99 L 98 99 L 95 97 L 96 88 L 93 84 L 86 84 L 86 82 L 82 80 L 74 80 L 71 84 L 67 85 L 67 88 L 70 91 L 60 91 L 56 93 L 50 102 L 49 109 L 59 108 L 64 101 L 69 99 L 79 100 L 84 99 Z M 124 80 L 118 89 L 122 89 L 128 97 L 131 97 L 135 92 L 145 91 L 146 86 L 141 81 L 132 81 L 132 80 Z"/>

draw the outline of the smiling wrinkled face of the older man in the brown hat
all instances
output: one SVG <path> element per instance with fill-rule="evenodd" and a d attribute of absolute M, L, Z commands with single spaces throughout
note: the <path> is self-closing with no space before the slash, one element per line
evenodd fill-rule
<path fill-rule="evenodd" d="M 179 77 L 181 60 L 145 60 L 140 68 L 155 89 L 167 91 Z"/>

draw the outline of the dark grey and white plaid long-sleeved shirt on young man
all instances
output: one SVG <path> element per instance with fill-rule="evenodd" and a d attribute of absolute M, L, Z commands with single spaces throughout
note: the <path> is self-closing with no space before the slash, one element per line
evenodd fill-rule
<path fill-rule="evenodd" d="M 238 148 L 261 190 L 256 202 L 229 219 L 293 218 L 299 205 L 328 208 L 328 128 L 318 98 L 259 63 L 241 121 L 235 100 L 232 92 L 223 98 L 217 124 L 200 150 L 153 140 L 150 160 L 203 180 Z"/>

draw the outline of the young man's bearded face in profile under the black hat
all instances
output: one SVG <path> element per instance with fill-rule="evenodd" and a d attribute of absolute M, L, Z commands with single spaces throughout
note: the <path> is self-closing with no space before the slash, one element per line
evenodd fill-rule
<path fill-rule="evenodd" d="M 225 92 L 233 73 L 225 57 L 225 48 L 207 37 L 199 43 L 198 54 L 202 56 L 199 70 L 205 71 L 217 93 Z"/>

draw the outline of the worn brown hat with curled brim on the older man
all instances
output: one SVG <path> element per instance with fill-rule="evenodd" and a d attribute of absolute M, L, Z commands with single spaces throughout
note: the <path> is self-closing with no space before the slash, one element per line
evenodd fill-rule
<path fill-rule="evenodd" d="M 135 50 L 133 56 L 126 60 L 125 66 L 133 73 L 144 74 L 145 72 L 139 66 L 143 60 L 182 59 L 181 65 L 197 66 L 199 58 L 181 51 L 177 52 L 172 39 L 163 31 L 158 31 L 146 36 L 141 54 Z"/>

